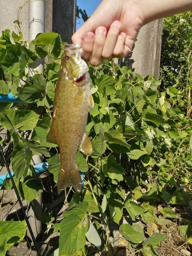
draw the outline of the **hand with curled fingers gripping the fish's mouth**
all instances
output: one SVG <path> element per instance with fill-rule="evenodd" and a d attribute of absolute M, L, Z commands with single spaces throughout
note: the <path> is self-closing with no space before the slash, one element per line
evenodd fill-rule
<path fill-rule="evenodd" d="M 144 23 L 133 0 L 103 0 L 93 15 L 72 36 L 83 48 L 82 58 L 98 66 L 102 58 L 123 58 L 132 51 Z"/>

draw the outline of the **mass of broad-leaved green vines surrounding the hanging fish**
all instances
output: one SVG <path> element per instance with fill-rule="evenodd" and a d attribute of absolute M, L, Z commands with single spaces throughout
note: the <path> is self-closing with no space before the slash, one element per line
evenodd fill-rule
<path fill-rule="evenodd" d="M 15 183 L 28 202 L 43 189 L 31 165 L 33 155 L 44 155 L 55 182 L 58 179 L 57 148 L 46 142 L 46 136 L 64 46 L 56 33 L 37 35 L 29 47 L 23 44 L 22 33 L 5 30 L 0 38 L 0 92 L 11 92 L 26 102 L 1 103 L 0 117 L 14 143 Z M 44 57 L 44 76 L 33 70 L 30 79 L 31 63 Z M 157 255 L 154 247 L 164 235 L 154 232 L 153 226 L 144 231 L 136 222 L 170 225 L 177 217 L 188 224 L 170 206 L 189 207 L 191 200 L 184 187 L 191 186 L 191 119 L 173 108 L 152 75 L 142 78 L 123 64 L 104 60 L 99 67 L 90 66 L 90 76 L 95 105 L 90 109 L 87 132 L 94 151 L 88 157 L 77 153 L 85 189 L 74 193 L 60 223 L 46 221 L 50 228 L 60 230 L 55 255 L 86 255 L 90 247 L 112 255 L 112 223 L 118 225 L 130 251 Z M 176 98 L 173 93 L 172 99 Z M 11 189 L 9 178 L 2 188 Z M 157 203 L 167 207 L 158 209 Z"/>

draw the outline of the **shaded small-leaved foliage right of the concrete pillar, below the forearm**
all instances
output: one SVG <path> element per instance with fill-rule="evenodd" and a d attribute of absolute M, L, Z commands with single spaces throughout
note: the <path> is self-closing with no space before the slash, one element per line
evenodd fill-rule
<path fill-rule="evenodd" d="M 190 11 L 164 19 L 160 68 L 161 90 L 166 88 L 169 102 L 188 116 L 191 113 L 191 19 Z"/>

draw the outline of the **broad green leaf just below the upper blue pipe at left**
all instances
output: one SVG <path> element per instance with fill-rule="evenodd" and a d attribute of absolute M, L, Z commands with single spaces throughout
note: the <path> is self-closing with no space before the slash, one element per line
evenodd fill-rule
<path fill-rule="evenodd" d="M 33 130 L 39 115 L 31 110 L 12 110 L 4 112 L 16 130 L 28 131 Z"/>

